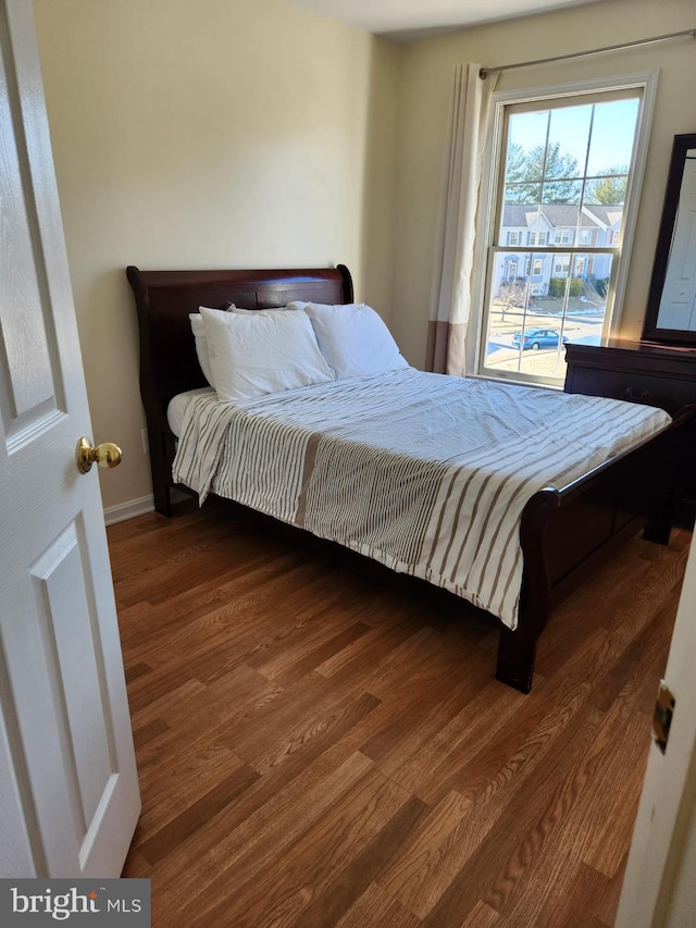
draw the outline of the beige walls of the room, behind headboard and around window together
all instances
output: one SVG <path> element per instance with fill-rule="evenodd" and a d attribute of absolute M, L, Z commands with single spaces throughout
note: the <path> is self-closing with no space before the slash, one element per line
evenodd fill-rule
<path fill-rule="evenodd" d="M 288 0 L 34 0 L 104 505 L 150 493 L 124 268 L 347 263 L 422 366 L 452 64 L 696 26 L 693 0 L 584 8 L 394 46 Z M 506 73 L 499 89 L 659 69 L 623 334 L 639 334 L 696 42 Z"/>

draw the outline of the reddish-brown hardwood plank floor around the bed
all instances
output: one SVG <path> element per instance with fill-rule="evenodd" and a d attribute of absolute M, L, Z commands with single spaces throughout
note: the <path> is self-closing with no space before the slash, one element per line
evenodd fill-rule
<path fill-rule="evenodd" d="M 153 926 L 611 926 L 689 540 L 608 561 L 523 696 L 411 578 L 233 506 L 113 525 Z"/>

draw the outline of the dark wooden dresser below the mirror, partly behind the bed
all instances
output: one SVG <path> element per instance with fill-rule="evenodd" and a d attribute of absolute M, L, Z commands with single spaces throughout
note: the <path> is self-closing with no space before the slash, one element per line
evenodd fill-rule
<path fill-rule="evenodd" d="M 608 396 L 658 406 L 674 416 L 696 404 L 696 348 L 608 338 L 600 345 L 566 346 L 566 393 Z M 696 434 L 682 461 L 684 521 L 696 514 Z M 681 520 L 680 520 L 681 521 Z"/>

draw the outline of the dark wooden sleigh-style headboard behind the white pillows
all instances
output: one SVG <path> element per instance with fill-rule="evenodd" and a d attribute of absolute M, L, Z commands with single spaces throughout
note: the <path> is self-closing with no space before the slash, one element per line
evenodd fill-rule
<path fill-rule="evenodd" d="M 189 312 L 200 306 L 277 309 L 294 299 L 352 302 L 350 271 L 294 268 L 274 271 L 140 271 L 126 268 L 135 296 L 140 334 L 140 395 L 148 423 L 154 508 L 171 515 L 174 435 L 166 421 L 173 396 L 206 386 Z"/>

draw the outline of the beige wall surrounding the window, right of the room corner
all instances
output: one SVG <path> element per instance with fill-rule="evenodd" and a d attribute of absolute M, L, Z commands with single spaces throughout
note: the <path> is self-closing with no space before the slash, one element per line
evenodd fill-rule
<path fill-rule="evenodd" d="M 696 27 L 694 0 L 602 0 L 587 7 L 468 29 L 407 46 L 401 57 L 393 331 L 421 366 L 452 65 L 506 64 Z M 643 196 L 622 314 L 641 333 L 672 137 L 696 132 L 696 41 L 644 46 L 575 62 L 507 72 L 497 89 L 535 87 L 659 69 Z M 398 310 L 396 309 L 398 308 Z"/>

